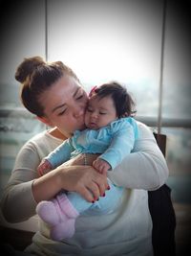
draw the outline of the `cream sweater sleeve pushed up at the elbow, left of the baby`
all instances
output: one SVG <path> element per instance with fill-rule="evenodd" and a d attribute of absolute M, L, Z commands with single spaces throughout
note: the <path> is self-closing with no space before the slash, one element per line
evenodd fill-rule
<path fill-rule="evenodd" d="M 37 204 L 32 195 L 32 182 L 37 178 L 36 168 L 41 158 L 32 142 L 28 142 L 19 151 L 1 198 L 1 210 L 6 221 L 27 221 L 35 215 Z"/>

